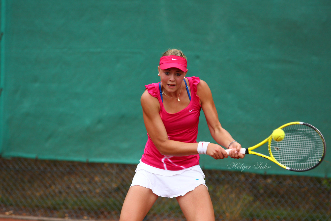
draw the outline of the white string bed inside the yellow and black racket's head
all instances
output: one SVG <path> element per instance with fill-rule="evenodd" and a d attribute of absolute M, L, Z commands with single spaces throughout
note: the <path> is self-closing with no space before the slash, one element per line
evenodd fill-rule
<path fill-rule="evenodd" d="M 283 128 L 285 138 L 269 143 L 271 155 L 280 164 L 293 170 L 307 170 L 316 166 L 324 155 L 324 142 L 313 128 L 295 124 Z"/>

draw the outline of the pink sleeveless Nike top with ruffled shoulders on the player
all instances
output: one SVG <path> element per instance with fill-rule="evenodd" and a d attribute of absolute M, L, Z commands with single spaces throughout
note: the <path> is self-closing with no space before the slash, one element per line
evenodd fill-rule
<path fill-rule="evenodd" d="M 201 110 L 200 99 L 197 96 L 197 84 L 200 79 L 199 77 L 186 77 L 186 79 L 188 79 L 191 89 L 191 101 L 186 108 L 175 114 L 166 112 L 160 95 L 159 83 L 151 83 L 145 85 L 145 87 L 160 102 L 160 116 L 166 127 L 168 138 L 186 143 L 195 143 L 197 142 Z M 147 137 L 144 154 L 141 157 L 142 162 L 165 170 L 182 170 L 199 164 L 199 154 L 189 156 L 162 155 L 148 134 Z"/>

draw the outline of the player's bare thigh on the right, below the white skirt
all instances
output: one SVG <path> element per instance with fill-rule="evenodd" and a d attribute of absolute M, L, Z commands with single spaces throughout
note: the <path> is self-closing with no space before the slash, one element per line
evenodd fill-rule
<path fill-rule="evenodd" d="M 206 186 L 200 185 L 176 199 L 188 221 L 215 220 L 213 203 Z"/>

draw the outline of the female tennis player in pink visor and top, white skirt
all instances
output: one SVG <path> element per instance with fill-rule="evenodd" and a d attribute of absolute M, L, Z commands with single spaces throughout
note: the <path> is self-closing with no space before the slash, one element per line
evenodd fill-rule
<path fill-rule="evenodd" d="M 230 157 L 243 158 L 241 145 L 219 123 L 207 83 L 186 77 L 182 51 L 167 50 L 158 70 L 161 82 L 145 85 L 141 96 L 148 139 L 119 220 L 143 220 L 159 196 L 176 197 L 188 221 L 215 220 L 199 154 L 227 158 L 225 146 Z M 218 144 L 196 140 L 201 109 Z"/>

